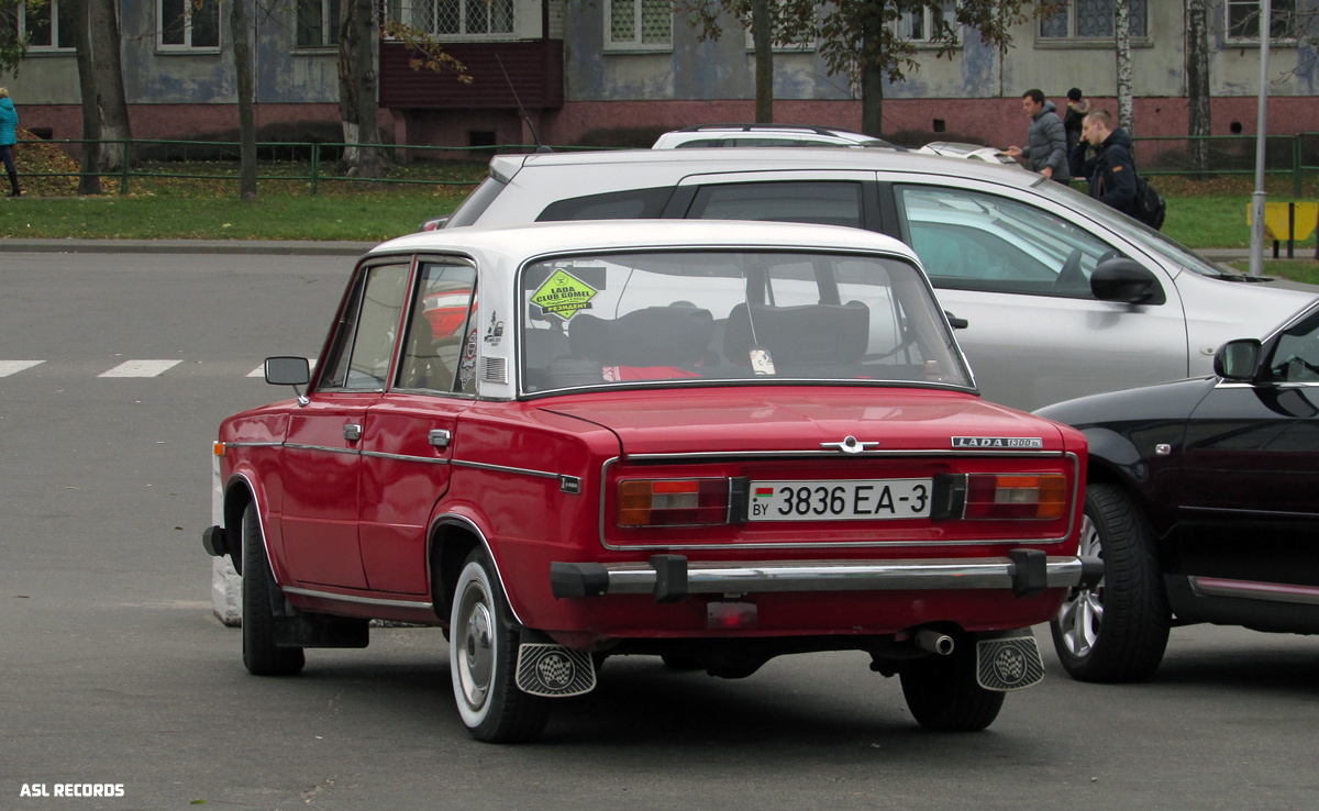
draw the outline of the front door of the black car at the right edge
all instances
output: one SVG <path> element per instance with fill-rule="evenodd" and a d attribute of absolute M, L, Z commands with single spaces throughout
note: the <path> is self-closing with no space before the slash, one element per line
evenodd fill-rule
<path fill-rule="evenodd" d="M 1196 406 L 1183 466 L 1190 574 L 1319 586 L 1319 313 L 1270 342 L 1256 381 Z"/>

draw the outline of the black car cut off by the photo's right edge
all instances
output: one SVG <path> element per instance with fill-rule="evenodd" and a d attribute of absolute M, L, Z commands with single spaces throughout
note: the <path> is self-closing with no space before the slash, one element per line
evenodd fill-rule
<path fill-rule="evenodd" d="M 1080 680 L 1151 675 L 1175 625 L 1319 633 L 1319 306 L 1213 369 L 1037 411 L 1089 439 L 1080 554 L 1104 579 L 1053 621 Z"/>

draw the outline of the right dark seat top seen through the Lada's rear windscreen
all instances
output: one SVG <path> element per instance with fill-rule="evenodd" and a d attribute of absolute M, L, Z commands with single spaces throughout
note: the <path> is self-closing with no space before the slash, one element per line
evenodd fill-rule
<path fill-rule="evenodd" d="M 798 307 L 741 303 L 728 314 L 724 356 L 747 365 L 752 345 L 760 345 L 776 364 L 849 364 L 865 355 L 869 339 L 871 310 L 859 301 Z"/>

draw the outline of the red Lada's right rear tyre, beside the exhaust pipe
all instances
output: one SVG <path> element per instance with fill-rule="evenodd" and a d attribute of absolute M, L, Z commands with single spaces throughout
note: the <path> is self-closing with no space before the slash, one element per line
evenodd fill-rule
<path fill-rule="evenodd" d="M 911 717 L 938 732 L 979 732 L 998 717 L 1004 699 L 1004 694 L 976 682 L 976 653 L 969 642 L 948 655 L 907 663 L 902 695 Z"/>

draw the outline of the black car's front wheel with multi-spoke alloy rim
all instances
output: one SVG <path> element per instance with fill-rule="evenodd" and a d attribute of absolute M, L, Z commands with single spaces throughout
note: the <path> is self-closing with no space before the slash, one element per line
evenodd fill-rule
<path fill-rule="evenodd" d="M 1068 592 L 1050 622 L 1063 667 L 1082 682 L 1138 682 L 1163 661 L 1171 611 L 1154 538 L 1120 487 L 1086 488 L 1080 554 L 1104 559 L 1093 588 Z"/>

